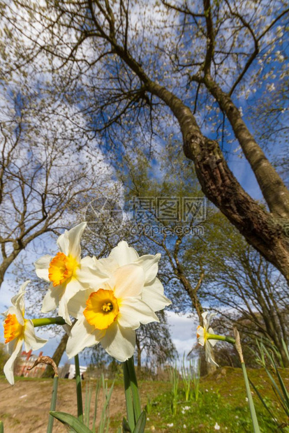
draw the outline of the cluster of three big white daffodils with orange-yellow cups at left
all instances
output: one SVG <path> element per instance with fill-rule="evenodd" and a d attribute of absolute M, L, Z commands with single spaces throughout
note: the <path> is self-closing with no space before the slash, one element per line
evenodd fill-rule
<path fill-rule="evenodd" d="M 139 256 L 124 241 L 107 258 L 81 258 L 80 238 L 86 223 L 80 223 L 59 236 L 59 252 L 36 261 L 36 274 L 50 283 L 43 300 L 43 313 L 58 309 L 70 330 L 68 358 L 85 347 L 101 343 L 105 351 L 124 362 L 135 349 L 135 330 L 140 324 L 158 321 L 156 311 L 171 302 L 163 294 L 156 277 L 161 254 Z M 4 313 L 4 335 L 10 359 L 5 374 L 13 383 L 13 364 L 24 342 L 37 349 L 46 340 L 36 337 L 33 323 L 24 318 L 24 289 L 12 299 L 13 307 Z"/>

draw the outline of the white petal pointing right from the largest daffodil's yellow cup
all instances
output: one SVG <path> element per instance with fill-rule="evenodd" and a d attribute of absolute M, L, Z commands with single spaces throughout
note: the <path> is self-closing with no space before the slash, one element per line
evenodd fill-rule
<path fill-rule="evenodd" d="M 140 328 L 140 323 L 146 325 L 151 322 L 159 322 L 154 311 L 147 304 L 135 298 L 126 298 L 121 302 L 117 321 L 121 328 Z"/>

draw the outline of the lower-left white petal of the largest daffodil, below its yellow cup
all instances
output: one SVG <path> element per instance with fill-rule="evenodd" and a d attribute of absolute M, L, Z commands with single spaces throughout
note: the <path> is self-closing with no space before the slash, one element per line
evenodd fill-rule
<path fill-rule="evenodd" d="M 105 331 L 96 330 L 94 326 L 89 325 L 83 317 L 75 323 L 71 329 L 71 336 L 68 338 L 66 353 L 68 358 L 80 353 L 85 347 L 98 344 L 101 338 L 105 335 Z"/>

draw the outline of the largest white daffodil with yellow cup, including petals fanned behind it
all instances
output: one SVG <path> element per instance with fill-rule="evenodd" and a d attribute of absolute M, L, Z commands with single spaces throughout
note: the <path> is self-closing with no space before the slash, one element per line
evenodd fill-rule
<path fill-rule="evenodd" d="M 117 360 L 124 362 L 131 358 L 135 330 L 140 323 L 158 321 L 154 311 L 170 304 L 163 296 L 163 286 L 156 281 L 158 260 L 158 255 L 139 258 L 126 242 L 120 242 L 107 259 L 99 260 L 111 277 L 98 286 L 91 281 L 94 288 L 78 293 L 77 301 L 73 298 L 75 304 L 83 305 L 81 296 L 87 294 L 86 308 L 82 314 L 78 312 L 78 320 L 68 338 L 68 358 L 99 342 Z"/>

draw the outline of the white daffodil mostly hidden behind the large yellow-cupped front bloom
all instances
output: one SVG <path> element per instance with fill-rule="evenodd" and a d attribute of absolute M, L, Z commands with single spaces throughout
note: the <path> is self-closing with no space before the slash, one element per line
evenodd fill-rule
<path fill-rule="evenodd" d="M 142 267 L 144 271 L 144 286 L 142 288 L 141 298 L 142 300 L 151 307 L 154 311 L 159 311 L 170 305 L 172 302 L 165 298 L 163 294 L 163 284 L 156 277 L 158 273 L 158 261 L 161 258 L 161 254 L 146 254 L 144 256 L 139 256 L 134 248 L 128 247 L 127 242 L 121 241 L 110 252 L 108 258 L 102 258 L 101 260 L 96 260 L 94 258 L 95 274 L 101 272 L 101 274 L 107 274 L 108 277 L 112 277 L 112 274 L 124 265 L 138 265 Z M 81 281 L 89 283 L 91 288 L 98 287 L 98 281 L 94 278 L 94 274 L 90 273 L 91 279 L 87 279 L 87 275 Z M 76 307 L 76 304 L 75 304 Z M 73 313 L 73 307 L 71 306 L 71 311 Z"/>

